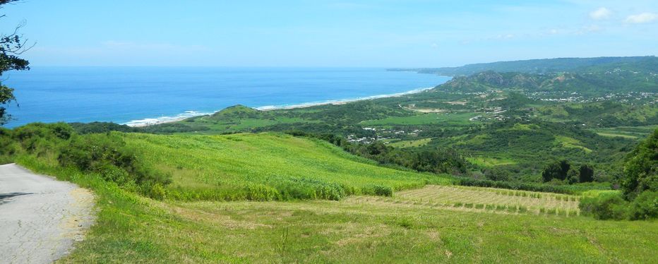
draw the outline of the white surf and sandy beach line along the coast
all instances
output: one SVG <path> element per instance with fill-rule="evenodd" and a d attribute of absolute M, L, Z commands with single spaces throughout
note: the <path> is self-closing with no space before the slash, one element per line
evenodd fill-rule
<path fill-rule="evenodd" d="M 424 92 L 426 90 L 431 90 L 433 87 L 429 88 L 418 88 L 414 90 L 409 90 L 407 92 L 397 92 L 397 93 L 392 93 L 392 94 L 385 94 L 385 95 L 371 95 L 371 96 L 366 96 L 366 97 L 357 97 L 357 98 L 351 98 L 351 99 L 339 99 L 339 100 L 327 100 L 327 101 L 322 101 L 322 102 L 305 102 L 301 104 L 280 104 L 280 105 L 265 105 L 261 107 L 251 107 L 253 109 L 256 109 L 258 111 L 273 111 L 273 110 L 281 110 L 281 109 L 297 109 L 297 108 L 306 108 L 306 107 L 316 107 L 320 105 L 328 105 L 328 104 L 347 104 L 350 102 L 358 102 L 358 101 L 364 101 L 364 100 L 374 100 L 374 99 L 380 99 L 380 98 L 388 98 L 388 97 L 400 97 L 404 95 L 412 95 L 415 93 L 419 92 Z M 123 123 L 123 125 L 130 126 L 130 127 L 144 127 L 144 126 L 154 126 L 154 125 L 159 125 L 159 124 L 168 124 L 168 123 L 174 123 L 178 121 L 183 121 L 185 119 L 189 119 L 191 117 L 195 116 L 208 116 L 210 114 L 215 114 L 216 112 L 220 112 L 222 110 L 217 110 L 215 112 L 197 112 L 197 111 L 186 111 L 183 112 L 182 114 L 177 114 L 175 116 L 160 116 L 157 118 L 148 118 L 148 119 L 136 119 L 136 120 L 131 120 L 126 123 Z"/>

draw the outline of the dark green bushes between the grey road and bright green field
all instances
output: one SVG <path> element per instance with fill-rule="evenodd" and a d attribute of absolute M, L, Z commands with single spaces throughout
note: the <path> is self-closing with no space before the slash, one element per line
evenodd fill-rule
<path fill-rule="evenodd" d="M 68 124 L 33 123 L 1 129 L 0 143 L 3 163 L 30 155 L 95 174 L 146 196 L 162 198 L 162 188 L 170 182 L 169 174 L 145 167 L 143 156 L 117 133 L 79 135 Z"/>

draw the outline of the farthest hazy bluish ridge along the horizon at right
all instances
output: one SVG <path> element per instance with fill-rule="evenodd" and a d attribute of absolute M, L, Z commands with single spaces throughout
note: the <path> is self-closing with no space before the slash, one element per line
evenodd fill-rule
<path fill-rule="evenodd" d="M 482 71 L 519 72 L 519 73 L 556 73 L 611 70 L 626 68 L 635 71 L 658 72 L 656 56 L 598 57 L 598 58 L 559 58 L 530 59 L 525 61 L 498 61 L 484 64 L 467 64 L 459 67 L 443 68 L 393 68 L 390 71 L 417 71 L 442 76 L 469 76 Z"/>

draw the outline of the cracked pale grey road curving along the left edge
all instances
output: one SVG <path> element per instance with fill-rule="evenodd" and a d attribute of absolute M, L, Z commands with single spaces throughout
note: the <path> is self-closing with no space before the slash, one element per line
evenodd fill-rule
<path fill-rule="evenodd" d="M 0 263 L 52 263 L 94 222 L 94 196 L 66 181 L 0 165 Z"/>

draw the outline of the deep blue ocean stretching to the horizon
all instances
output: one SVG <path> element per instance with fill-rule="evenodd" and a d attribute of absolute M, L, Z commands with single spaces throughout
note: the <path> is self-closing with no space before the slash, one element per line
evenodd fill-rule
<path fill-rule="evenodd" d="M 138 124 L 432 88 L 449 77 L 385 68 L 32 67 L 5 73 L 16 89 L 6 127 L 32 122 Z M 18 103 L 18 104 L 17 104 Z"/>

